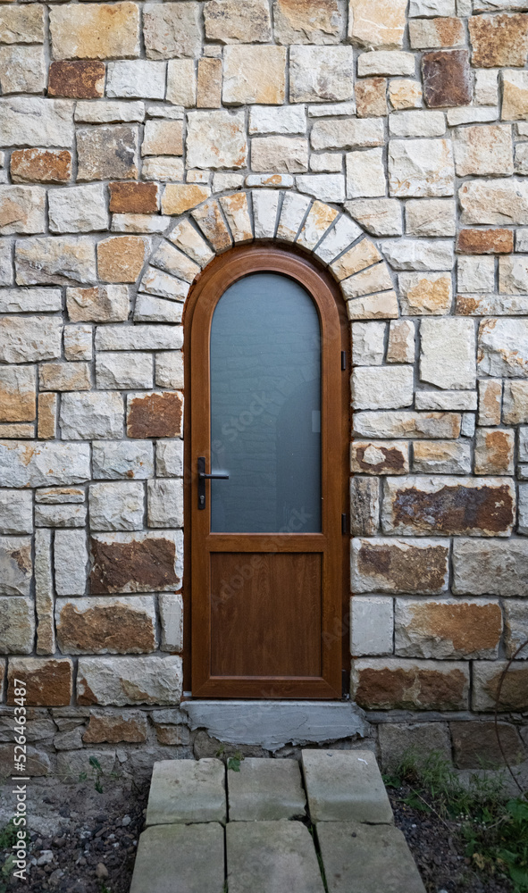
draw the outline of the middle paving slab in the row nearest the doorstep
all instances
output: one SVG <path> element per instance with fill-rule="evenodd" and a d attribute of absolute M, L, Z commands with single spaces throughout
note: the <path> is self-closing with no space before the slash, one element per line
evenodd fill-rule
<path fill-rule="evenodd" d="M 306 797 L 297 760 L 245 759 L 227 773 L 230 822 L 263 822 L 304 816 Z"/>

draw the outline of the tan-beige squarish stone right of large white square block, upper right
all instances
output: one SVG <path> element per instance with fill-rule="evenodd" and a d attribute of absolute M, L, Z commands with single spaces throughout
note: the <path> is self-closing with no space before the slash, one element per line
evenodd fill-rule
<path fill-rule="evenodd" d="M 454 136 L 458 177 L 508 175 L 514 172 L 511 125 L 484 124 L 458 128 Z"/>

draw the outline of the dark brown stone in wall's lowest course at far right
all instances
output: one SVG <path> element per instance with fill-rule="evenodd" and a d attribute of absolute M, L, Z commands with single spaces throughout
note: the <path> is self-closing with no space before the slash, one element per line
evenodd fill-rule
<path fill-rule="evenodd" d="M 451 722 L 451 738 L 458 769 L 482 769 L 482 765 L 504 765 L 502 750 L 510 764 L 524 760 L 523 742 L 515 726 L 508 722 Z"/>

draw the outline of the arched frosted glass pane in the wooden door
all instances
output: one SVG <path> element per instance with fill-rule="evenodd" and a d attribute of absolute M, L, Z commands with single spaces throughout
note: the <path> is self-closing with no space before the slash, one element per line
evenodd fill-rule
<path fill-rule="evenodd" d="M 211 328 L 211 530 L 321 531 L 321 330 L 278 273 L 230 286 Z"/>

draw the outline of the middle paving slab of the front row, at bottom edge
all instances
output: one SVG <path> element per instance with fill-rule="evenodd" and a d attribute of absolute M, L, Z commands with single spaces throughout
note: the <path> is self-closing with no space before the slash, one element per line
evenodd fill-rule
<path fill-rule="evenodd" d="M 314 841 L 301 822 L 230 822 L 226 852 L 230 893 L 324 893 Z"/>

